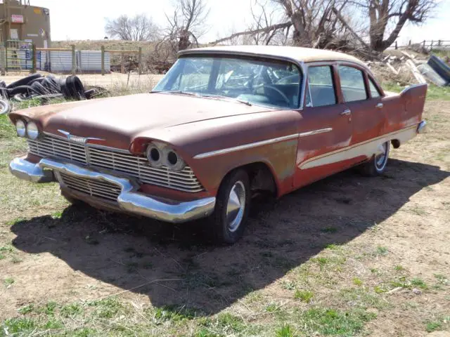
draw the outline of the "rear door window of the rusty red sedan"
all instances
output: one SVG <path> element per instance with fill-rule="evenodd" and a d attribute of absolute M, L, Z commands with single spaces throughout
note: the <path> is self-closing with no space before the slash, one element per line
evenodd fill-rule
<path fill-rule="evenodd" d="M 366 85 L 364 84 L 364 74 L 361 70 L 345 65 L 339 66 L 340 87 L 345 102 L 355 100 L 366 100 Z"/>

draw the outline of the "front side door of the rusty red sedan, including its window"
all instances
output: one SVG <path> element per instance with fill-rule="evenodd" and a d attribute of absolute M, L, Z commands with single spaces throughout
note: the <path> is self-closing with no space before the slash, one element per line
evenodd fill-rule
<path fill-rule="evenodd" d="M 306 102 L 300 111 L 296 188 L 349 166 L 342 150 L 352 140 L 352 116 L 338 99 L 336 77 L 333 65 L 308 67 Z"/>

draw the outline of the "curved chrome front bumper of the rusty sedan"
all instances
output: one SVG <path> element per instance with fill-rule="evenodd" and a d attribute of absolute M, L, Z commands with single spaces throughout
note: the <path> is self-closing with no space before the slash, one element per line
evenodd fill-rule
<path fill-rule="evenodd" d="M 32 183 L 57 181 L 54 173 L 58 174 L 58 172 L 77 178 L 112 183 L 118 185 L 121 189 L 119 197 L 117 197 L 118 209 L 169 223 L 184 223 L 189 220 L 209 216 L 214 211 L 216 204 L 215 197 L 193 201 L 172 201 L 148 196 L 137 192 L 139 185 L 134 183 L 133 180 L 53 159 L 44 158 L 39 163 L 33 164 L 23 158 L 15 158 L 9 164 L 9 170 L 14 176 Z"/>

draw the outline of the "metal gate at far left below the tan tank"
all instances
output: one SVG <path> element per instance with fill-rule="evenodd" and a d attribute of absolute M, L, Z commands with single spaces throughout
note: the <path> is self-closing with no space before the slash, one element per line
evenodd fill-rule
<path fill-rule="evenodd" d="M 33 46 L 30 41 L 8 40 L 6 49 L 6 71 L 20 72 L 33 67 Z"/>

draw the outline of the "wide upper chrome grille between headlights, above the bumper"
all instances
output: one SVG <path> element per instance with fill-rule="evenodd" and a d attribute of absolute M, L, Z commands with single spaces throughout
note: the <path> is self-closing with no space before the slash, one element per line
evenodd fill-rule
<path fill-rule="evenodd" d="M 201 192 L 203 186 L 189 166 L 182 171 L 172 171 L 167 167 L 152 167 L 146 157 L 122 152 L 89 147 L 69 142 L 64 138 L 46 135 L 40 140 L 28 139 L 29 152 L 39 157 L 56 157 L 126 173 L 141 183 L 169 187 L 184 192 Z"/>

